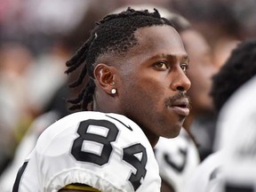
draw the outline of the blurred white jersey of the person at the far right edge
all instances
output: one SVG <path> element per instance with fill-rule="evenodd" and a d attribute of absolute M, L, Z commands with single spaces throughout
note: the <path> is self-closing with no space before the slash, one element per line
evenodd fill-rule
<path fill-rule="evenodd" d="M 212 184 L 212 192 L 256 190 L 255 95 L 256 75 L 241 85 L 221 109 L 215 145 L 222 148 L 223 161 L 221 176 Z"/>

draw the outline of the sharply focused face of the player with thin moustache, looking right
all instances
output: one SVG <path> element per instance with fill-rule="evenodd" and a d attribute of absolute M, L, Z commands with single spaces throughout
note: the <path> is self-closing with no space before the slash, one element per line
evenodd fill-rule
<path fill-rule="evenodd" d="M 148 140 L 172 138 L 188 116 L 190 87 L 186 76 L 188 54 L 177 31 L 170 26 L 140 28 L 139 44 L 120 65 L 119 107 L 139 124 Z"/>

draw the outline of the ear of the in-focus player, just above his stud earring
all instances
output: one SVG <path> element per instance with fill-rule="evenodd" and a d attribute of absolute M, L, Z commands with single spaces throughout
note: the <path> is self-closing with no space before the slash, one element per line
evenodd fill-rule
<path fill-rule="evenodd" d="M 115 88 L 116 68 L 100 63 L 94 68 L 93 73 L 101 89 L 111 94 L 111 90 Z"/>

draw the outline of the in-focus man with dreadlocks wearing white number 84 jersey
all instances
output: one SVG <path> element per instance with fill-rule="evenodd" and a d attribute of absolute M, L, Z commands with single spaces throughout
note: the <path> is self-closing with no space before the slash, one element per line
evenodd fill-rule
<path fill-rule="evenodd" d="M 176 137 L 189 113 L 188 54 L 170 21 L 157 11 L 108 15 L 67 66 L 82 67 L 71 87 L 90 76 L 69 100 L 82 112 L 42 133 L 13 191 L 160 191 L 152 147 Z"/>

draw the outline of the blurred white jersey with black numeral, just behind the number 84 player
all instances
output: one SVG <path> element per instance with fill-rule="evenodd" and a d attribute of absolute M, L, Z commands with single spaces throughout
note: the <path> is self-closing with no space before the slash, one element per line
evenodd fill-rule
<path fill-rule="evenodd" d="M 176 138 L 160 137 L 154 150 L 162 180 L 171 185 L 175 192 L 183 192 L 200 163 L 196 144 L 188 132 L 182 128 Z"/>

